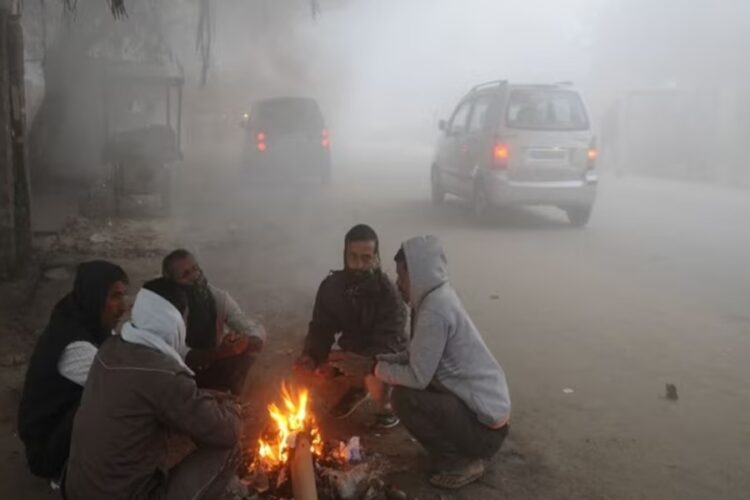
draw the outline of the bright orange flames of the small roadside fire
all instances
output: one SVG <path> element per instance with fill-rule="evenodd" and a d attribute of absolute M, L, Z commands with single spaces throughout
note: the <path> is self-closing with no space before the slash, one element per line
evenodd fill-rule
<path fill-rule="evenodd" d="M 289 460 L 289 450 L 294 448 L 297 434 L 309 432 L 313 455 L 323 452 L 323 439 L 315 422 L 315 416 L 308 411 L 310 393 L 307 389 L 290 390 L 286 383 L 281 384 L 281 407 L 276 403 L 268 405 L 268 414 L 275 424 L 274 436 L 269 440 L 258 440 L 258 458 L 265 468 L 278 467 Z M 282 409 L 283 408 L 283 409 Z"/>

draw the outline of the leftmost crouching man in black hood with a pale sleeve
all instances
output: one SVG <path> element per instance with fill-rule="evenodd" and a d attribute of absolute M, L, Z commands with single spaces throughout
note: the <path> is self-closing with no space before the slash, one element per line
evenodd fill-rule
<path fill-rule="evenodd" d="M 18 410 L 18 434 L 31 472 L 57 481 L 70 448 L 96 350 L 127 310 L 128 277 L 104 261 L 81 264 L 73 291 L 57 303 L 34 347 Z"/>

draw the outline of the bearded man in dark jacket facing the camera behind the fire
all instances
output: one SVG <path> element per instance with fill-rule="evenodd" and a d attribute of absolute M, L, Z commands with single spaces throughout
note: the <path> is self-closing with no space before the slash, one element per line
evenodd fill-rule
<path fill-rule="evenodd" d="M 354 226 L 344 239 L 344 269 L 323 280 L 315 298 L 298 371 L 325 372 L 331 348 L 338 338 L 343 353 L 375 356 L 394 353 L 406 345 L 406 308 L 388 276 L 380 269 L 378 236 L 365 224 Z M 341 354 L 341 353 L 337 353 Z M 335 370 L 327 370 L 329 375 Z M 342 383 L 345 377 L 334 377 Z M 365 380 L 357 379 L 333 407 L 336 418 L 349 416 L 368 397 Z M 382 398 L 381 398 L 382 399 Z M 387 397 L 385 398 L 387 399 Z M 398 425 L 389 411 L 377 416 L 379 427 Z"/>

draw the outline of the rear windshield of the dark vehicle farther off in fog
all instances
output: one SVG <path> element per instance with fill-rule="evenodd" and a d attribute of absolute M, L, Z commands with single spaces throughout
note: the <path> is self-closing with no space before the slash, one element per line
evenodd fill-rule
<path fill-rule="evenodd" d="M 288 133 L 323 129 L 318 104 L 309 99 L 275 99 L 256 106 L 252 120 L 265 132 Z"/>

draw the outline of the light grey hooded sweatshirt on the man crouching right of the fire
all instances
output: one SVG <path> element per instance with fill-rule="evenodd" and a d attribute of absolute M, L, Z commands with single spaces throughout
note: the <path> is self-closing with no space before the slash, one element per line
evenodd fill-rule
<path fill-rule="evenodd" d="M 505 374 L 448 283 L 445 254 L 434 236 L 404 243 L 415 315 L 408 353 L 378 357 L 375 375 L 391 385 L 425 389 L 435 380 L 483 424 L 510 418 Z"/>

